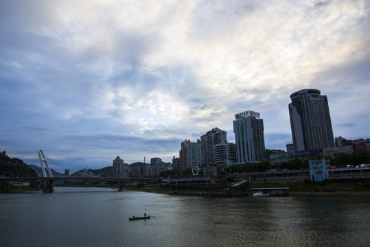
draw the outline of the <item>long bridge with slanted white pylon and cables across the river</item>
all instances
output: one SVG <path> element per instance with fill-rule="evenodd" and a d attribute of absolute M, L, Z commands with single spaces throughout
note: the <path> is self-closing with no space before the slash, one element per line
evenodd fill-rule
<path fill-rule="evenodd" d="M 12 182 L 30 182 L 30 183 L 39 183 L 42 186 L 44 193 L 53 193 L 54 191 L 54 181 L 56 180 L 89 180 L 89 181 L 118 181 L 119 182 L 119 191 L 123 191 L 124 183 L 130 182 L 138 182 L 138 181 L 159 181 L 161 178 L 115 178 L 115 177 L 102 177 L 102 176 L 60 176 L 54 177 L 51 173 L 51 169 L 49 167 L 49 163 L 45 158 L 45 154 L 43 150 L 38 150 L 38 159 L 41 164 L 41 171 L 43 173 L 43 177 L 40 176 L 24 176 L 27 174 L 24 170 L 20 170 L 15 176 L 8 176 L 3 177 L 0 176 L 0 187 L 3 191 L 9 191 L 9 184 L 10 181 Z M 27 166 L 28 167 L 28 166 Z M 28 167 L 32 169 L 31 167 Z M 30 172 L 28 172 L 30 173 Z"/>

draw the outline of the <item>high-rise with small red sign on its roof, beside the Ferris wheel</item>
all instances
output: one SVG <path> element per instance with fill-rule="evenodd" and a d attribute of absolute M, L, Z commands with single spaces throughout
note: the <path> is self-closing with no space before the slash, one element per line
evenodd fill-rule
<path fill-rule="evenodd" d="M 200 165 L 200 141 L 185 140 L 181 143 L 180 169 Z"/>

